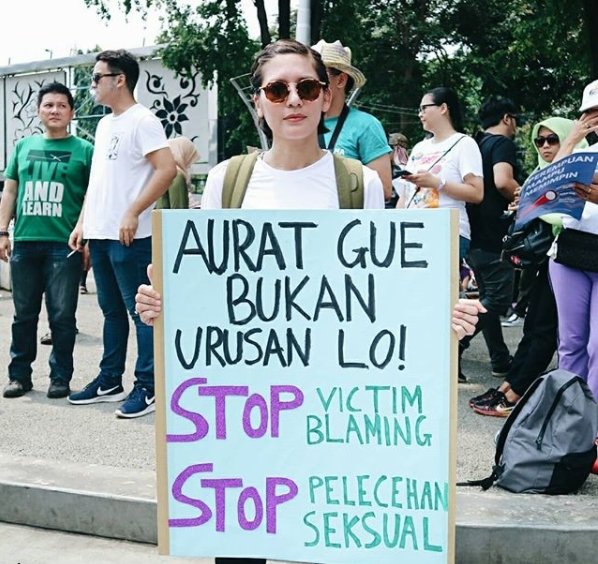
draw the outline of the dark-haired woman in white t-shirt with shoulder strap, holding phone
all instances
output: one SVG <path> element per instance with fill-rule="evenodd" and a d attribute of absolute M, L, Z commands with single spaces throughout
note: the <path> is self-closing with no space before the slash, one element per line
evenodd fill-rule
<path fill-rule="evenodd" d="M 484 197 L 482 155 L 471 137 L 459 133 L 461 107 L 450 88 L 434 88 L 424 94 L 419 119 L 431 136 L 411 151 L 405 168 L 412 174 L 397 182 L 397 207 L 457 208 L 459 254 L 463 259 L 471 239 L 465 204 L 478 204 Z"/>

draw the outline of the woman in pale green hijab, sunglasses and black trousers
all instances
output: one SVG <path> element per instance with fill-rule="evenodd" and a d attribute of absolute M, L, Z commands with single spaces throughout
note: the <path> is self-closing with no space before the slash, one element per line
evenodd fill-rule
<path fill-rule="evenodd" d="M 574 121 L 561 117 L 551 117 L 534 125 L 531 141 L 538 156 L 534 172 L 553 162 L 561 140 L 566 139 L 574 127 Z M 582 139 L 577 148 L 585 147 L 587 143 Z M 516 209 L 516 205 L 511 209 Z M 551 220 L 552 216 L 545 219 Z M 470 407 L 480 415 L 507 417 L 531 383 L 546 370 L 556 350 L 557 309 L 548 280 L 548 257 L 536 270 L 527 270 L 526 276 L 531 277 L 531 283 L 527 290 L 529 303 L 523 336 L 505 381 L 498 388 L 490 388 L 469 400 Z"/>

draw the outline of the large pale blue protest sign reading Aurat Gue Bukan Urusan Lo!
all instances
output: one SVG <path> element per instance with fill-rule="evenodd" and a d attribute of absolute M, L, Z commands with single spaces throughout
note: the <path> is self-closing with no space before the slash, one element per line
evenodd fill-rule
<path fill-rule="evenodd" d="M 453 562 L 455 210 L 153 217 L 160 551 Z"/>

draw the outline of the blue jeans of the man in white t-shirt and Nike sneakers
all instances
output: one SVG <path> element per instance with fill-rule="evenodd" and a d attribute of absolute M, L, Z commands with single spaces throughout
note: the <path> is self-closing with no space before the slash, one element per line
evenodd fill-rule
<path fill-rule="evenodd" d="M 120 384 L 125 371 L 129 318 L 137 336 L 135 385 L 154 390 L 154 333 L 135 312 L 135 294 L 140 284 L 149 284 L 147 265 L 152 257 L 152 238 L 135 239 L 127 247 L 120 241 L 89 241 L 98 303 L 104 314 L 104 354 L 100 377 L 107 384 Z"/>

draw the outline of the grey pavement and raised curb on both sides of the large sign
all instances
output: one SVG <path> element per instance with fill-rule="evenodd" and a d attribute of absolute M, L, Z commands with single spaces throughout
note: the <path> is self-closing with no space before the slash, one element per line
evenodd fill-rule
<path fill-rule="evenodd" d="M 74 390 L 96 376 L 101 356 L 102 320 L 93 276 L 88 288 L 90 293 L 79 300 Z M 3 367 L 9 361 L 12 312 L 11 293 L 1 290 Z M 38 335 L 46 330 L 43 318 Z M 503 331 L 514 351 L 521 328 Z M 132 339 L 129 344 L 134 348 Z M 114 416 L 115 404 L 75 407 L 66 400 L 47 399 L 50 350 L 39 346 L 31 393 L 18 399 L 0 398 L 0 521 L 155 542 L 154 415 L 120 420 Z M 490 375 L 486 358 L 480 336 L 464 359 L 469 382 L 459 385 L 458 481 L 490 474 L 494 435 L 504 422 L 476 415 L 467 405 L 471 396 L 499 382 Z M 5 378 L 4 373 L 2 386 Z M 129 364 L 125 388 L 131 385 Z M 579 494 L 562 497 L 458 488 L 457 562 L 589 562 L 598 534 L 597 499 L 598 476 L 590 476 Z M 121 518 L 135 527 L 121 524 Z M 157 555 L 155 548 L 153 552 Z M 87 557 L 85 551 L 78 554 Z M 137 561 L 153 561 L 142 554 Z M 112 562 L 87 559 L 94 564 Z M 5 558 L 0 561 L 12 564 Z M 19 561 L 36 563 L 24 557 L 15 563 Z"/>

